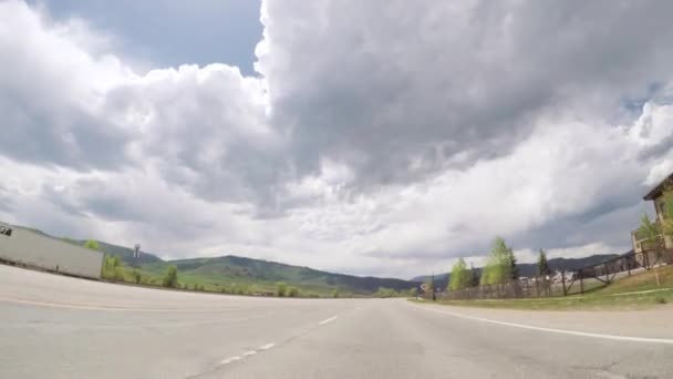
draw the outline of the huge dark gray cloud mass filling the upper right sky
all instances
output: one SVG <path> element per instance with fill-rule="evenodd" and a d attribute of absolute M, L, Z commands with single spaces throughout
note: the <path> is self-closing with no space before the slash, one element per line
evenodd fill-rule
<path fill-rule="evenodd" d="M 509 153 L 550 109 L 610 120 L 670 79 L 669 3 L 407 4 L 265 2 L 258 69 L 302 172 L 329 156 L 360 183 L 404 183 Z"/>

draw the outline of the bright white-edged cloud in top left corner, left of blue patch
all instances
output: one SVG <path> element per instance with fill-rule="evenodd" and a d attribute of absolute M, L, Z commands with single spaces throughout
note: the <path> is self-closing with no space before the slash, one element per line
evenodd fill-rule
<path fill-rule="evenodd" d="M 130 137 L 96 112 L 115 61 L 86 55 L 69 38 L 79 24 L 50 24 L 21 2 L 0 11 L 0 113 L 3 155 L 77 170 L 117 168 Z M 59 33 L 53 29 L 60 28 Z M 20 34 L 18 38 L 17 34 Z M 99 66 L 95 72 L 93 66 Z"/>

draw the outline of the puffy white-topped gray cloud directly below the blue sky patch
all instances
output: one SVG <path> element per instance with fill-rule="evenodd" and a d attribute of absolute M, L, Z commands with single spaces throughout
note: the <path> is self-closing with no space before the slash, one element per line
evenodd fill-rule
<path fill-rule="evenodd" d="M 108 93 L 134 114 L 137 150 L 164 178 L 208 201 L 271 204 L 284 142 L 266 122 L 261 82 L 222 64 L 156 70 Z"/>

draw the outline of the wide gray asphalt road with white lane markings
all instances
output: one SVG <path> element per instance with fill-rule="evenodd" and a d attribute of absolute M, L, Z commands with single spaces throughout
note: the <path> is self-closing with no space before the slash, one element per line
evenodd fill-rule
<path fill-rule="evenodd" d="M 267 299 L 0 266 L 0 378 L 673 378 L 672 309 Z"/>

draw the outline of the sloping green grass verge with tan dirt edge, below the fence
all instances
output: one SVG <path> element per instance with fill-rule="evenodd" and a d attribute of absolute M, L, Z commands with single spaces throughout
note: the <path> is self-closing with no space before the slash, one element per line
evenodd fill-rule
<path fill-rule="evenodd" d="M 659 285 L 656 283 L 659 275 Z M 439 304 L 514 309 L 603 310 L 644 309 L 673 303 L 673 266 L 659 267 L 624 277 L 584 295 L 528 299 L 446 300 Z"/>

